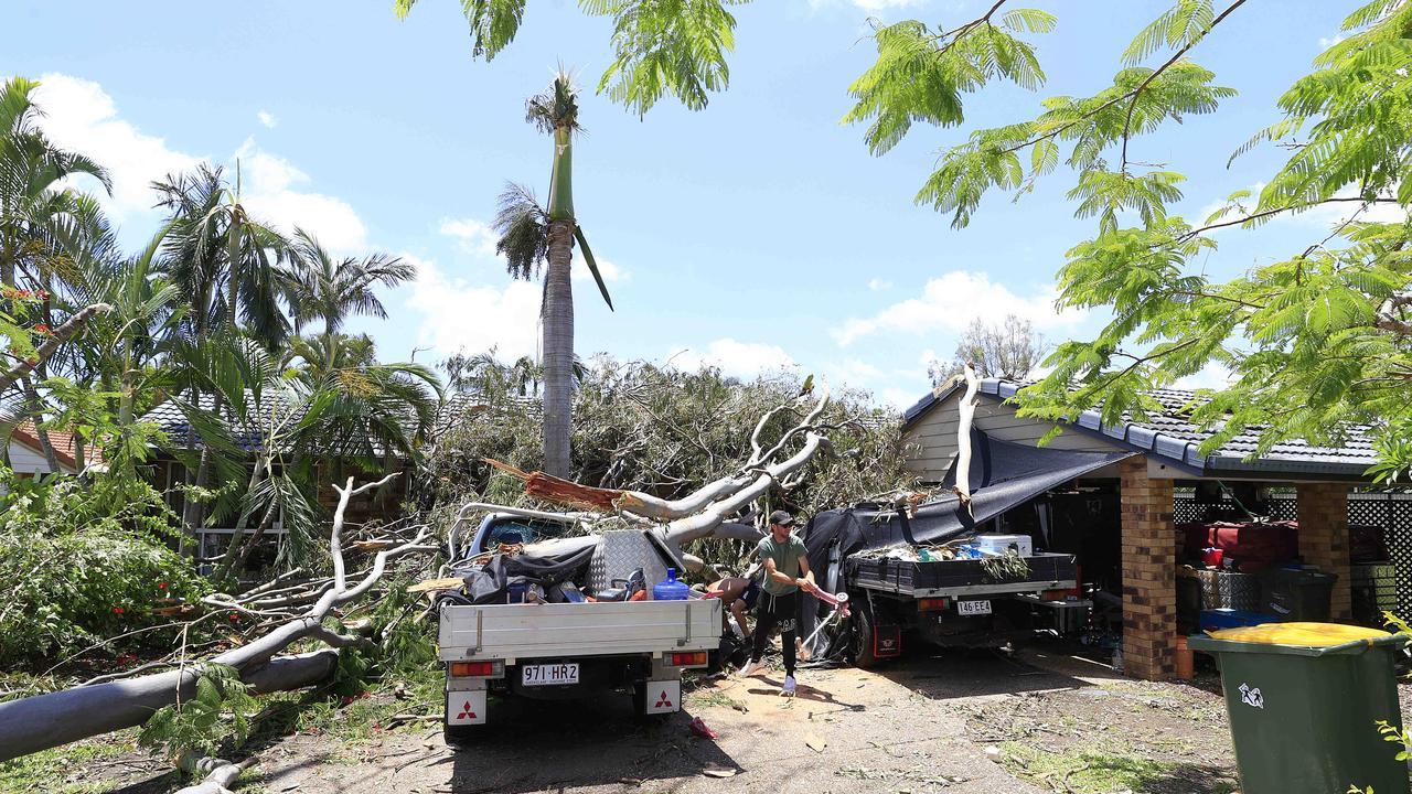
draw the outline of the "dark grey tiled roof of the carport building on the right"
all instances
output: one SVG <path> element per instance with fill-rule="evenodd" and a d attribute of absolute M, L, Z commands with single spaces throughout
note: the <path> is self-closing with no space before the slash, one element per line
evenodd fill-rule
<path fill-rule="evenodd" d="M 1022 386 L 988 377 L 981 380 L 980 391 L 1007 400 L 1014 397 Z M 957 389 L 960 389 L 959 384 L 935 390 L 919 400 L 904 413 L 902 427 L 907 428 L 919 420 Z M 1258 449 L 1260 434 L 1264 429 L 1264 427 L 1252 427 L 1226 442 L 1214 454 L 1203 456 L 1197 454 L 1197 448 L 1213 432 L 1192 424 L 1183 410 L 1196 400 L 1196 394 L 1185 389 L 1159 389 L 1149 394 L 1162 404 L 1161 414 L 1151 414 L 1142 421 L 1128 418 L 1121 425 L 1104 425 L 1099 411 L 1090 410 L 1083 411 L 1076 421 L 1067 422 L 1067 427 L 1101 435 L 1120 446 L 1162 458 L 1193 473 L 1213 476 L 1216 473 L 1284 472 L 1361 478 L 1377 458 L 1372 452 L 1371 438 L 1360 427 L 1348 428 L 1341 446 L 1316 446 L 1293 439 L 1276 444 L 1268 452 L 1247 461 Z"/>

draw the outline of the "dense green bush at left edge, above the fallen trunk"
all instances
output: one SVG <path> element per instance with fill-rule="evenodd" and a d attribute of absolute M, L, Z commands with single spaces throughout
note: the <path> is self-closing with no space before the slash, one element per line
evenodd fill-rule
<path fill-rule="evenodd" d="M 52 664 L 103 637 L 147 629 L 157 600 L 196 599 L 206 583 L 165 543 L 171 511 L 140 482 L 76 478 L 0 482 L 0 664 Z M 151 633 L 141 640 L 168 640 Z"/>

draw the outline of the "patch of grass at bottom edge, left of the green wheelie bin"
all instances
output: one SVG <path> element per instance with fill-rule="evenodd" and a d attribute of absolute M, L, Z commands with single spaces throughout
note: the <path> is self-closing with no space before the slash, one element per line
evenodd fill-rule
<path fill-rule="evenodd" d="M 1144 791 L 1152 794 L 1231 794 L 1234 781 L 1193 764 L 1144 759 L 1121 745 L 1051 752 L 1019 742 L 1001 746 L 1001 763 L 1015 777 L 1075 794 Z"/>

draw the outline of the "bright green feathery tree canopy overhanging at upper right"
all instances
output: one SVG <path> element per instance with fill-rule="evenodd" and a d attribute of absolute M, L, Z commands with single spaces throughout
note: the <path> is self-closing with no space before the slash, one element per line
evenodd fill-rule
<path fill-rule="evenodd" d="M 853 86 L 849 122 L 867 122 L 868 146 L 887 151 L 914 122 L 956 126 L 960 96 L 994 79 L 1036 88 L 1043 72 L 1021 35 L 1048 31 L 1035 11 L 995 3 L 980 20 L 932 32 L 907 21 L 875 31 L 877 64 Z M 1091 96 L 1055 96 L 1027 120 L 973 130 L 940 153 L 916 195 L 966 226 L 991 191 L 1021 196 L 1063 165 L 1077 218 L 1097 222 L 1059 270 L 1058 305 L 1101 308 L 1111 321 L 1090 340 L 1059 345 L 1053 373 L 1019 394 L 1022 413 L 1073 418 L 1100 408 L 1106 421 L 1142 417 L 1147 393 L 1216 366 L 1230 384 L 1202 390 L 1193 418 L 1217 432 L 1260 432 L 1260 449 L 1305 438 L 1337 442 L 1372 428 L 1380 476 L 1412 463 L 1412 4 L 1375 0 L 1344 23 L 1346 37 L 1279 97 L 1282 117 L 1231 155 L 1288 150 L 1260 195 L 1238 192 L 1209 218 L 1172 206 L 1186 178 L 1135 160 L 1141 138 L 1185 117 L 1213 113 L 1236 95 L 1190 57 L 1244 0 L 1220 7 L 1179 0 L 1118 54 L 1113 83 Z M 997 24 L 997 20 L 1000 24 Z M 1252 55 L 1254 57 L 1254 55 Z M 1346 208 L 1327 235 L 1279 261 L 1230 280 L 1202 264 L 1216 229 L 1252 229 L 1322 205 Z M 1396 220 L 1375 220 L 1375 206 Z M 1380 218 L 1387 213 L 1378 213 Z M 1200 259 L 1199 259 L 1200 257 Z M 1257 452 L 1257 454 L 1258 454 Z"/>

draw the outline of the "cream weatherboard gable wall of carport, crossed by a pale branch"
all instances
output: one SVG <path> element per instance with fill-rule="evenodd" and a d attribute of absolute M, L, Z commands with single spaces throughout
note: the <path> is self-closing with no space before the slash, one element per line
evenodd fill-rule
<path fill-rule="evenodd" d="M 940 482 L 946 476 L 946 469 L 952 466 L 952 461 L 956 459 L 960 398 L 962 391 L 955 391 L 902 432 L 907 470 L 922 482 Z M 1007 405 L 1004 400 L 993 394 L 979 396 L 974 424 L 976 429 L 991 438 L 1025 446 L 1038 446 L 1039 439 L 1055 428 L 1053 422 L 1015 415 L 1014 405 Z M 1121 452 L 1124 449 L 1072 428 L 1065 428 L 1046 448 L 1079 452 Z M 1094 472 L 1091 476 L 1103 475 Z"/>

